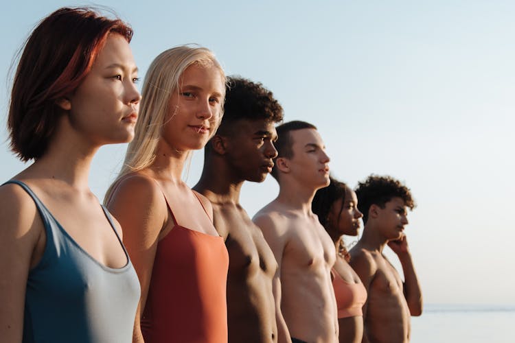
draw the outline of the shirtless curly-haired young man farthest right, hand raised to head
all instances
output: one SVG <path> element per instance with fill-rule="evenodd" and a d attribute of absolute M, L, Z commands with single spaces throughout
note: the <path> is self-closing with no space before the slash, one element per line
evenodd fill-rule
<path fill-rule="evenodd" d="M 409 342 L 410 316 L 422 314 L 422 292 L 413 268 L 404 226 L 415 202 L 409 189 L 389 176 L 371 175 L 356 188 L 363 213 L 363 237 L 350 250 L 350 265 L 367 288 L 363 342 Z M 398 256 L 404 283 L 382 251 Z"/>

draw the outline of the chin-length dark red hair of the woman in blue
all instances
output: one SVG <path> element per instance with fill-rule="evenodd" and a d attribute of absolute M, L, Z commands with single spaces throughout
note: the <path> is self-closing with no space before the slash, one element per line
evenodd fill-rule
<path fill-rule="evenodd" d="M 27 39 L 12 85 L 10 147 L 22 161 L 43 156 L 65 110 L 58 101 L 91 71 L 110 33 L 133 36 L 130 26 L 90 8 L 60 8 Z"/>

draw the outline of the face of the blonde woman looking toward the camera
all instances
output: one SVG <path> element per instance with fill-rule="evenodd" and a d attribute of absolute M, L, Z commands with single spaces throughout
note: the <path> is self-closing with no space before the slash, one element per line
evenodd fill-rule
<path fill-rule="evenodd" d="M 214 66 L 192 64 L 170 97 L 163 139 L 176 150 L 202 149 L 214 134 L 222 113 L 225 84 Z"/>

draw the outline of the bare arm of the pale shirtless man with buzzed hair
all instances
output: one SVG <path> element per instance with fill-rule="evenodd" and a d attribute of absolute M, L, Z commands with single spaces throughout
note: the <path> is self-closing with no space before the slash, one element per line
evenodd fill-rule
<path fill-rule="evenodd" d="M 284 235 L 277 235 L 277 227 L 270 217 L 265 215 L 257 215 L 253 217 L 253 222 L 258 225 L 263 233 L 264 239 L 270 246 L 275 261 L 277 261 L 277 270 L 272 281 L 273 296 L 275 300 L 275 320 L 277 322 L 277 343 L 291 342 L 290 332 L 284 321 L 281 311 L 281 265 L 284 252 L 285 240 Z"/>

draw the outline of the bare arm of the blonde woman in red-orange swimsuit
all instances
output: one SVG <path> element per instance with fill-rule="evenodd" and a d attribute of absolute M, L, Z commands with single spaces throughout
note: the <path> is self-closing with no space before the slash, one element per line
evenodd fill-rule
<path fill-rule="evenodd" d="M 133 343 L 143 343 L 140 320 L 148 296 L 159 233 L 167 215 L 161 190 L 150 178 L 132 176 L 123 180 L 106 204 L 122 225 L 124 245 L 141 285 Z"/>

